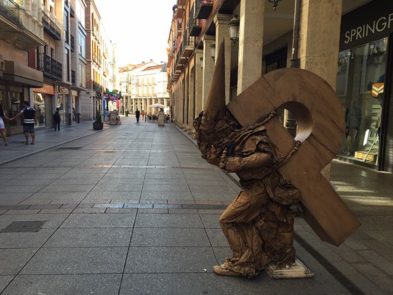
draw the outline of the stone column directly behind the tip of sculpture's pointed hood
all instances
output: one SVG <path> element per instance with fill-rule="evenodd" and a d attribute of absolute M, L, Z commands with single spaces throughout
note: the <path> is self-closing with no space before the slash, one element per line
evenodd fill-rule
<path fill-rule="evenodd" d="M 260 3 L 260 1 L 258 2 Z M 263 18 L 261 15 L 259 17 Z M 223 39 L 225 39 L 225 102 L 227 104 L 229 103 L 229 86 L 231 81 L 231 51 L 232 51 L 232 42 L 231 39 L 229 39 L 228 21 L 230 21 L 232 17 L 233 16 L 230 14 L 214 15 L 216 55 L 219 52 L 219 45 L 221 44 L 221 42 L 223 42 Z"/>

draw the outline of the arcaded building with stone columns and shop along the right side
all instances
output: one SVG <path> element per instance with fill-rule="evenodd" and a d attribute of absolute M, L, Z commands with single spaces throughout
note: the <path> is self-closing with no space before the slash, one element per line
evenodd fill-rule
<path fill-rule="evenodd" d="M 298 56 L 292 57 L 295 0 L 278 2 L 276 10 L 259 0 L 178 0 L 168 38 L 173 119 L 191 132 L 205 106 L 214 51 L 225 39 L 227 103 L 264 73 L 299 61 L 336 89 L 342 103 L 346 136 L 338 157 L 393 171 L 392 2 L 303 0 L 301 5 Z M 238 36 L 231 42 L 228 23 L 234 17 Z M 296 133 L 296 118 L 279 111 Z"/>

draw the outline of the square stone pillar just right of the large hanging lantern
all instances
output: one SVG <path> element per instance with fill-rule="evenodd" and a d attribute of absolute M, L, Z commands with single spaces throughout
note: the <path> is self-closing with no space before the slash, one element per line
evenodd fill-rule
<path fill-rule="evenodd" d="M 262 75 L 263 14 L 265 1 L 241 0 L 237 94 Z"/>

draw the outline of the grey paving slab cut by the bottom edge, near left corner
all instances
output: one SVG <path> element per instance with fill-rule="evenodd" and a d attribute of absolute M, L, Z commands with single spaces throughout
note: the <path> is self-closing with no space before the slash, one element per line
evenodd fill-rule
<path fill-rule="evenodd" d="M 0 277 L 1 279 L 2 277 Z M 5 289 L 3 294 L 64 293 L 117 295 L 120 282 L 121 274 L 18 275 Z"/>

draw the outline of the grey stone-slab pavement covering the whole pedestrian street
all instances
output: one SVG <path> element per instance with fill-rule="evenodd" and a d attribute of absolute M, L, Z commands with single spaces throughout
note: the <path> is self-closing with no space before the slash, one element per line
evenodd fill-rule
<path fill-rule="evenodd" d="M 0 146 L 0 230 L 42 221 L 37 232 L 0 232 L 1 294 L 367 294 L 393 290 L 393 176 L 334 160 L 331 180 L 362 222 L 340 247 L 301 217 L 297 234 L 352 281 L 347 288 L 300 240 L 311 279 L 220 277 L 231 254 L 218 217 L 240 188 L 206 163 L 173 124 L 122 117 L 22 135 Z M 349 288 L 349 289 L 348 289 Z"/>

